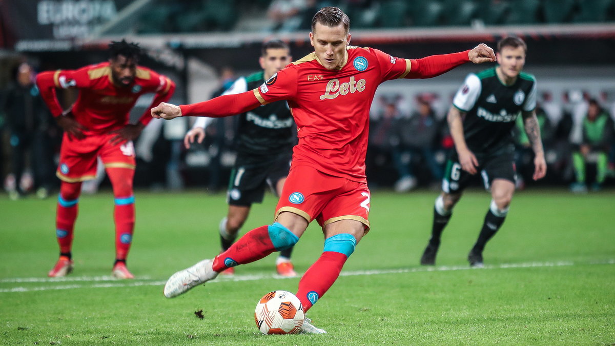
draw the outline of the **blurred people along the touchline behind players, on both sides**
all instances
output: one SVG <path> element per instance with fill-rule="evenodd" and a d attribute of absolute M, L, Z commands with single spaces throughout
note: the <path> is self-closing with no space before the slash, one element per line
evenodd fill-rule
<path fill-rule="evenodd" d="M 36 72 L 26 62 L 15 65 L 10 82 L 0 94 L 0 172 L 10 198 L 28 193 L 46 198 L 58 187 L 55 177 L 62 131 L 42 102 L 34 85 Z M 219 95 L 236 76 L 228 68 L 220 78 Z M 600 190 L 615 181 L 615 102 L 608 92 L 589 95 L 568 91 L 553 95 L 543 91 L 536 114 L 548 164 L 541 184 L 565 185 L 582 193 Z M 401 94 L 378 95 L 371 109 L 367 175 L 371 188 L 404 192 L 424 187 L 437 189 L 454 143 L 446 112 L 450 100 L 435 93 L 407 99 Z M 143 110 L 137 110 L 140 112 Z M 234 118 L 215 119 L 205 141 L 183 148 L 185 123 L 153 121 L 135 143 L 135 186 L 181 189 L 204 186 L 223 190 L 234 162 Z M 515 128 L 517 187 L 531 180 L 533 151 L 523 131 L 521 117 Z M 104 169 L 84 184 L 94 192 L 105 184 Z M 108 181 L 107 181 L 108 183 Z"/>

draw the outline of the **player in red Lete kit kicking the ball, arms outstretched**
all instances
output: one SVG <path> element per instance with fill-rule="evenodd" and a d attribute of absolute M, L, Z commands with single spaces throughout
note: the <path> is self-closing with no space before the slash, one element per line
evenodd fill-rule
<path fill-rule="evenodd" d="M 275 222 L 249 231 L 214 259 L 172 275 L 164 288 L 166 297 L 212 280 L 226 268 L 293 246 L 315 219 L 325 235 L 324 251 L 304 273 L 297 292 L 308 311 L 335 282 L 369 230 L 365 153 L 369 110 L 378 85 L 396 78 L 431 78 L 469 61 L 495 60 L 493 49 L 484 44 L 455 54 L 396 58 L 377 49 L 349 46 L 349 26 L 344 12 L 323 7 L 314 15 L 309 34 L 315 51 L 287 65 L 257 89 L 192 105 L 162 103 L 152 109 L 154 118 L 219 117 L 287 100 L 299 137 Z M 302 331 L 325 332 L 309 320 Z"/>

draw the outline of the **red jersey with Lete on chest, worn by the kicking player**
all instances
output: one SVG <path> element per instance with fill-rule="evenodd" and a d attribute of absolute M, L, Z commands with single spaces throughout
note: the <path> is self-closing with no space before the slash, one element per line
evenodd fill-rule
<path fill-rule="evenodd" d="M 254 90 L 261 103 L 287 100 L 299 143 L 293 166 L 308 165 L 325 174 L 365 182 L 370 105 L 384 81 L 404 78 L 407 59 L 378 49 L 347 47 L 339 70 L 327 70 L 315 53 L 274 74 Z"/>

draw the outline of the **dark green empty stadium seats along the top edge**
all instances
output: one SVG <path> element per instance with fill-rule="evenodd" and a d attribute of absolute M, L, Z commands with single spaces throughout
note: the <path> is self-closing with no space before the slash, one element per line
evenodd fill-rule
<path fill-rule="evenodd" d="M 252 18 L 255 8 L 266 9 L 270 3 L 271 0 L 154 0 L 135 24 L 135 31 L 241 30 L 236 26 L 237 18 Z M 355 29 L 469 26 L 473 20 L 486 25 L 615 21 L 615 0 L 327 0 L 317 4 L 340 7 Z M 256 16 L 266 21 L 264 11 Z"/>

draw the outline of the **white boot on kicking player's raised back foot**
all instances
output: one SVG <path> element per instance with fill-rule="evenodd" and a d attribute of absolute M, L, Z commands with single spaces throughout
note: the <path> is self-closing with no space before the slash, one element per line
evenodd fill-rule
<path fill-rule="evenodd" d="M 177 297 L 194 286 L 215 279 L 216 276 L 218 273 L 213 270 L 213 259 L 202 260 L 192 267 L 171 275 L 164 285 L 164 296 Z"/>

